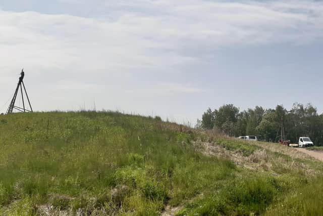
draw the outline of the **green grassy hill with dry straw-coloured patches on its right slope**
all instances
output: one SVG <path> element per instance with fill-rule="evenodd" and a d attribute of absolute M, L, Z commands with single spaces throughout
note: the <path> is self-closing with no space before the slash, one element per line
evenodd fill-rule
<path fill-rule="evenodd" d="M 158 117 L 0 116 L 0 215 L 319 215 L 322 170 Z"/>

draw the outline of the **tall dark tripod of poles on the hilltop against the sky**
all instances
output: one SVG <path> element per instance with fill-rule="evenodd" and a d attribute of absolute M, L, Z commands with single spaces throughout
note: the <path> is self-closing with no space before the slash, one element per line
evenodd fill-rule
<path fill-rule="evenodd" d="M 30 104 L 30 101 L 29 101 L 29 97 L 28 97 L 28 94 L 27 94 L 27 91 L 26 91 L 26 88 L 25 88 L 25 84 L 24 84 L 24 81 L 23 81 L 24 76 L 25 76 L 24 69 L 22 69 L 20 75 L 21 76 L 19 77 L 19 82 L 17 84 L 17 88 L 16 88 L 16 91 L 15 91 L 14 97 L 11 100 L 11 103 L 10 103 L 8 109 L 7 109 L 6 114 L 12 113 L 14 111 L 14 109 L 15 110 L 18 110 L 19 112 L 32 112 L 32 108 L 31 108 L 31 104 Z M 17 98 L 17 95 L 19 93 L 19 89 L 20 89 L 20 93 L 21 93 L 23 107 L 18 107 L 18 106 L 15 105 L 16 98 Z M 26 98 L 28 100 L 28 104 L 29 104 L 29 108 L 28 109 L 25 107 L 24 94 L 23 94 L 23 90 L 22 89 L 24 89 Z"/>

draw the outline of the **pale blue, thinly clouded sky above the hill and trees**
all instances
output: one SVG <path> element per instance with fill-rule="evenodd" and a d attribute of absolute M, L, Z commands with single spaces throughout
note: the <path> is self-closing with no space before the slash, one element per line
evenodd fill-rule
<path fill-rule="evenodd" d="M 24 68 L 35 111 L 321 113 L 322 39 L 321 1 L 0 0 L 0 112 Z"/>

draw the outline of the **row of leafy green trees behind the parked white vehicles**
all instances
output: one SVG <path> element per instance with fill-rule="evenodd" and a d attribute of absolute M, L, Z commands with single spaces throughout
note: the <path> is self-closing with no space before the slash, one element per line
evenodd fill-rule
<path fill-rule="evenodd" d="M 314 145 L 323 145 L 323 114 L 317 114 L 317 109 L 311 104 L 295 103 L 291 110 L 283 105 L 278 105 L 276 109 L 256 106 L 241 112 L 233 104 L 227 104 L 215 110 L 208 108 L 196 126 L 216 129 L 234 137 L 260 135 L 264 141 L 277 142 L 282 119 L 286 138 L 291 142 L 298 142 L 298 137 L 308 136 Z"/>

